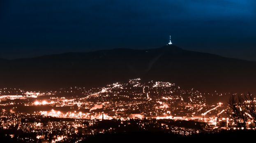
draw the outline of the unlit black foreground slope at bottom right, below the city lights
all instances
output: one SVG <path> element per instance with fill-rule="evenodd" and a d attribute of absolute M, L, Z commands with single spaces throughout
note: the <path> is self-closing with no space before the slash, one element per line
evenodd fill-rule
<path fill-rule="evenodd" d="M 98 134 L 91 136 L 81 143 L 154 143 L 154 142 L 196 142 L 196 143 L 207 143 L 207 142 L 229 142 L 236 143 L 240 141 L 245 141 L 248 139 L 253 139 L 256 132 L 254 130 L 244 130 L 244 131 L 220 131 L 219 133 L 208 132 L 195 134 L 191 136 L 180 136 L 177 134 L 170 134 L 164 132 L 126 132 L 126 133 L 116 133 L 116 134 Z"/>

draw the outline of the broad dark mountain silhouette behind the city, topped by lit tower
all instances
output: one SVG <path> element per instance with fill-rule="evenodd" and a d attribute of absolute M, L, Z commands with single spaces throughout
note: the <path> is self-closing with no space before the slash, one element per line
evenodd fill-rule
<path fill-rule="evenodd" d="M 0 87 L 90 88 L 140 77 L 201 91 L 256 92 L 256 62 L 187 51 L 175 45 L 3 60 L 0 66 Z"/>

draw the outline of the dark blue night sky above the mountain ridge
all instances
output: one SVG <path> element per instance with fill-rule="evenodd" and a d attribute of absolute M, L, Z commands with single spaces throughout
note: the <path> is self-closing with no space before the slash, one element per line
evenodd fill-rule
<path fill-rule="evenodd" d="M 255 0 L 1 0 L 0 57 L 183 49 L 256 60 Z"/>

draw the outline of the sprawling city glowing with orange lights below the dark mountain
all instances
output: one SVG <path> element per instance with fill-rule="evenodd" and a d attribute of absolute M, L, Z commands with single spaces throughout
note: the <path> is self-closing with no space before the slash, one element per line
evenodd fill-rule
<path fill-rule="evenodd" d="M 41 93 L 4 88 L 0 93 L 1 128 L 32 134 L 17 137 L 27 142 L 79 142 L 85 136 L 125 130 L 132 123 L 141 130 L 184 136 L 234 129 L 228 104 L 207 101 L 224 93 L 184 90 L 175 83 L 136 78 L 90 90 L 69 87 Z M 100 127 L 104 122 L 111 125 Z"/>

